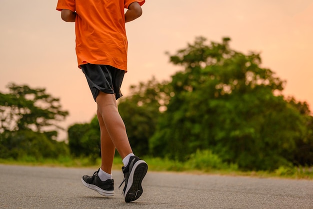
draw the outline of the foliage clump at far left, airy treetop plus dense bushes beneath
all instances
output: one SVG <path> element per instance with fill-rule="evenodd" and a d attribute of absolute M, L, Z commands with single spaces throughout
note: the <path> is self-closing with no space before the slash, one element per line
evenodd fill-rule
<path fill-rule="evenodd" d="M 57 125 L 65 119 L 59 99 L 43 88 L 9 84 L 0 92 L 0 158 L 57 157 L 68 154 L 67 145 L 58 142 Z"/>

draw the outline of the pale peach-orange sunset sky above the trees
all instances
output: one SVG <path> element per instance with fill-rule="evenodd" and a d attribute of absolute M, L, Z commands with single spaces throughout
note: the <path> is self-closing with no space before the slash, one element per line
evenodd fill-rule
<path fill-rule="evenodd" d="M 60 19 L 52 0 L 1 0 L 0 92 L 7 84 L 45 88 L 69 116 L 64 128 L 85 123 L 96 104 L 75 55 L 74 24 Z M 169 63 L 195 37 L 231 39 L 230 48 L 260 53 L 261 67 L 286 81 L 285 96 L 313 111 L 313 0 L 146 0 L 142 16 L 126 23 L 128 72 L 121 91 L 154 76 L 170 80 L 182 70 Z M 66 138 L 65 132 L 60 133 Z"/>

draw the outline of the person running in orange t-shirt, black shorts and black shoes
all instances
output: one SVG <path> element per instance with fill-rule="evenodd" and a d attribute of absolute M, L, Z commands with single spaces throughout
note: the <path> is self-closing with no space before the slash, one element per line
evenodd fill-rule
<path fill-rule="evenodd" d="M 132 152 L 116 100 L 122 96 L 120 87 L 127 71 L 125 23 L 141 16 L 144 2 L 58 0 L 56 6 L 63 21 L 75 22 L 78 68 L 84 73 L 97 104 L 101 166 L 92 176 L 82 176 L 81 181 L 101 195 L 114 195 L 111 169 L 116 148 L 124 165 L 122 193 L 126 202 L 134 201 L 142 194 L 141 182 L 148 166 Z"/>

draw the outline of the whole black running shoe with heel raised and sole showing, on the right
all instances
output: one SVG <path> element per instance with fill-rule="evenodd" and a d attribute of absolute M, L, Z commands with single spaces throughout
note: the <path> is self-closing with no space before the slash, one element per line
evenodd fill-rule
<path fill-rule="evenodd" d="M 148 170 L 148 165 L 139 157 L 131 156 L 127 166 L 122 166 L 121 169 L 124 173 L 124 180 L 119 187 L 125 182 L 122 192 L 125 202 L 136 200 L 142 194 L 141 182 Z"/>

